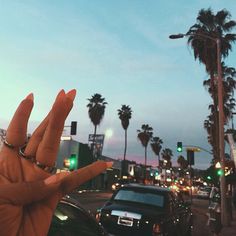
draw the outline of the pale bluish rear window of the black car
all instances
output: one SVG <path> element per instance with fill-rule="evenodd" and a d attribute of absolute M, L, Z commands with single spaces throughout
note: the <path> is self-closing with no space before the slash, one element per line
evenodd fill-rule
<path fill-rule="evenodd" d="M 142 203 L 151 206 L 164 207 L 164 196 L 152 192 L 137 192 L 130 189 L 121 189 L 114 200 Z"/>

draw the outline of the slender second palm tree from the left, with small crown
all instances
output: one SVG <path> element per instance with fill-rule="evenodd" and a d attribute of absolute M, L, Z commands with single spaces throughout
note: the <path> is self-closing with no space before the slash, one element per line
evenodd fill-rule
<path fill-rule="evenodd" d="M 124 174 L 124 163 L 126 157 L 126 150 L 127 150 L 127 129 L 129 127 L 129 120 L 132 117 L 132 110 L 131 107 L 127 105 L 122 105 L 121 109 L 118 109 L 118 116 L 121 120 L 121 125 L 125 130 L 125 149 L 124 149 L 124 158 L 123 158 L 123 166 L 122 166 L 122 173 Z"/>

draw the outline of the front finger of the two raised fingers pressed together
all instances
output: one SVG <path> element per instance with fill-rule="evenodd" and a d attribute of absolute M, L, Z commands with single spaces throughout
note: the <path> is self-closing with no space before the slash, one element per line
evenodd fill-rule
<path fill-rule="evenodd" d="M 36 152 L 36 160 L 43 165 L 53 166 L 60 144 L 64 122 L 73 106 L 76 90 L 60 93 L 50 112 L 48 125 Z"/>

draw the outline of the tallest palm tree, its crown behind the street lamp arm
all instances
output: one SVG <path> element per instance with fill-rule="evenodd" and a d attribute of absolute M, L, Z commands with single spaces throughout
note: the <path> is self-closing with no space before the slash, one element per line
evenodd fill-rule
<path fill-rule="evenodd" d="M 198 13 L 197 22 L 190 27 L 187 32 L 188 44 L 191 45 L 194 51 L 195 59 L 203 63 L 206 72 L 210 75 L 211 96 L 214 105 L 214 124 L 218 124 L 218 97 L 217 97 L 217 45 L 214 39 L 219 39 L 221 42 L 221 56 L 227 57 L 229 51 L 232 50 L 232 43 L 236 41 L 236 34 L 230 32 L 235 28 L 236 22 L 229 20 L 231 17 L 227 10 L 218 11 L 216 14 L 209 9 L 201 9 Z M 201 35 L 203 35 L 201 37 Z M 204 37 L 205 36 L 205 37 Z M 209 38 L 208 38 L 209 37 Z M 218 137 L 218 125 L 215 126 L 216 136 Z M 216 146 L 219 143 L 217 138 Z M 218 149 L 219 150 L 219 149 Z M 219 157 L 219 152 L 215 158 Z"/>

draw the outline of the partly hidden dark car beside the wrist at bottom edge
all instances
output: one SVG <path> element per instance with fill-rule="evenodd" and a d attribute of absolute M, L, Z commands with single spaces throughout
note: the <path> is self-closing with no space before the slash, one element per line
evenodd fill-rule
<path fill-rule="evenodd" d="M 57 205 L 48 236 L 108 236 L 108 234 L 76 200 L 65 197 Z"/>

